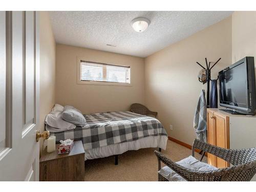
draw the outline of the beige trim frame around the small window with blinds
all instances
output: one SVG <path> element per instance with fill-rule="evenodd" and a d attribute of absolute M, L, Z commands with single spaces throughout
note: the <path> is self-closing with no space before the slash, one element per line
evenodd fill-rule
<path fill-rule="evenodd" d="M 81 67 L 81 61 L 84 62 L 92 62 L 97 64 L 106 64 L 105 62 L 101 61 L 89 61 L 89 59 L 77 57 L 77 84 L 88 84 L 88 85 L 96 85 L 96 86 L 128 86 L 132 87 L 132 67 L 131 66 L 125 66 L 125 65 L 116 65 L 116 64 L 107 64 L 107 65 L 113 65 L 113 66 L 125 66 L 130 67 L 130 83 L 123 83 L 123 82 L 106 82 L 106 81 L 84 81 L 80 79 L 80 67 Z"/>

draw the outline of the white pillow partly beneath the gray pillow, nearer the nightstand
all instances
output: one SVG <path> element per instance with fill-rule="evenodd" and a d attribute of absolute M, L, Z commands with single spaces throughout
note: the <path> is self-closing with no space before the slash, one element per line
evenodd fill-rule
<path fill-rule="evenodd" d="M 51 111 L 46 116 L 45 124 L 59 129 L 60 131 L 75 129 L 76 125 L 63 120 L 61 117 L 61 113 L 62 111 Z"/>

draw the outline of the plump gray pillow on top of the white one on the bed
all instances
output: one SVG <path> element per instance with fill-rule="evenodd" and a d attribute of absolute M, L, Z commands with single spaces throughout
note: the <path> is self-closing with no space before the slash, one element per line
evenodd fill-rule
<path fill-rule="evenodd" d="M 73 106 L 66 105 L 61 114 L 62 119 L 73 123 L 77 126 L 83 126 L 86 124 L 86 118 L 83 117 L 81 112 Z"/>

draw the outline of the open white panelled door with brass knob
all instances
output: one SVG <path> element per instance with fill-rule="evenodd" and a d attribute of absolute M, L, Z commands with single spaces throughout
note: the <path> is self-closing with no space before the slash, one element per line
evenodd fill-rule
<path fill-rule="evenodd" d="M 39 18 L 0 11 L 0 181 L 39 180 Z"/>

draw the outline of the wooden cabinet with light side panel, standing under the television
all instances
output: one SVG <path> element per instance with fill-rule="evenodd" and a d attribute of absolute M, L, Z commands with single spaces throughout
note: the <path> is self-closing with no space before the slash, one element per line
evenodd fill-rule
<path fill-rule="evenodd" d="M 220 109 L 207 109 L 207 142 L 223 148 L 241 149 L 256 146 L 256 115 L 234 115 Z M 229 164 L 214 155 L 208 163 L 216 167 Z M 256 176 L 252 181 L 256 181 Z"/>

